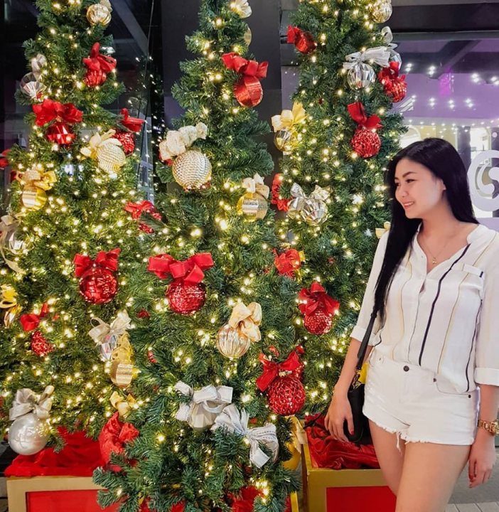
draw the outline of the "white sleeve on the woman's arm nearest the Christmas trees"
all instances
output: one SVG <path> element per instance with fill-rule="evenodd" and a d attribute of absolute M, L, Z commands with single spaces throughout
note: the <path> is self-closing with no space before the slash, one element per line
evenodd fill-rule
<path fill-rule="evenodd" d="M 367 331 L 367 327 L 369 326 L 369 321 L 371 319 L 372 308 L 374 306 L 377 277 L 380 275 L 383 259 L 385 257 L 388 235 L 388 232 L 382 235 L 380 241 L 377 244 L 375 257 L 374 260 L 372 260 L 372 268 L 369 274 L 369 280 L 367 281 L 367 286 L 365 287 L 364 298 L 362 301 L 362 306 L 360 307 L 360 313 L 357 319 L 357 324 L 355 325 L 352 333 L 350 334 L 351 338 L 355 338 L 358 341 L 363 340 L 365 336 L 365 331 Z M 377 334 L 377 331 L 379 330 L 380 315 L 378 314 L 375 324 L 372 327 L 371 336 L 369 338 L 370 345 L 375 344 L 375 336 Z"/>

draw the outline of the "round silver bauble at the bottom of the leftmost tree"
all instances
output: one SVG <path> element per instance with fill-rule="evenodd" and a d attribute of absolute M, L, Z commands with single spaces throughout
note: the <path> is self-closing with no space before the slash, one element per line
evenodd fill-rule
<path fill-rule="evenodd" d="M 34 455 L 45 448 L 49 434 L 48 422 L 28 412 L 14 420 L 9 428 L 9 444 L 20 455 Z"/>

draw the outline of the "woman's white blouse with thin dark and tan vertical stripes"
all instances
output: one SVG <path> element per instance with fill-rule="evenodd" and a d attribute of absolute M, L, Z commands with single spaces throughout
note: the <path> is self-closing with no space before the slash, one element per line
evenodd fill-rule
<path fill-rule="evenodd" d="M 382 356 L 441 375 L 449 393 L 499 386 L 499 233 L 478 225 L 466 247 L 428 274 L 417 233 L 393 277 L 385 324 L 380 326 L 378 314 L 369 344 Z M 359 341 L 369 324 L 387 239 L 385 233 L 377 245 L 350 335 Z"/>

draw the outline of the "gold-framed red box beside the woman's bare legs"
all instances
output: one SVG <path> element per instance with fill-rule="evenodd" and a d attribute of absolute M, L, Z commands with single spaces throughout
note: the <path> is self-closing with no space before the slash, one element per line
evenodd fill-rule
<path fill-rule="evenodd" d="M 308 444 L 302 450 L 304 506 L 307 512 L 395 512 L 395 495 L 380 469 L 326 469 L 312 466 Z"/>

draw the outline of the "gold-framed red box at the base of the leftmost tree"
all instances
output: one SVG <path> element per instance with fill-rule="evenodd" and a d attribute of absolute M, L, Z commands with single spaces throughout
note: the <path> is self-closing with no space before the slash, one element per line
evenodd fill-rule
<path fill-rule="evenodd" d="M 33 476 L 7 479 L 9 512 L 117 512 L 100 508 L 91 476 Z"/>

